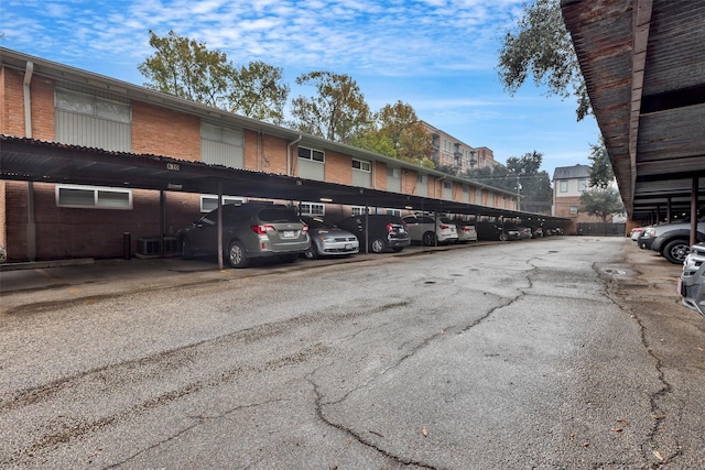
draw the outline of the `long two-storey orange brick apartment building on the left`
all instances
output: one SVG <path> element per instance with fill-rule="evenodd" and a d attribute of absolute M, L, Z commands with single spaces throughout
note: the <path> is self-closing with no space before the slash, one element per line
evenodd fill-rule
<path fill-rule="evenodd" d="M 516 195 L 502 189 L 6 48 L 0 48 L 0 133 L 508 211 L 518 207 Z M 481 152 L 476 155 L 484 161 Z M 247 196 L 227 194 L 223 201 Z M 139 240 L 174 234 L 217 207 L 217 199 L 214 194 L 141 189 L 129 182 L 104 187 L 4 178 L 0 247 L 8 261 L 120 258 L 124 232 L 132 234 L 130 249 L 137 252 Z M 288 203 L 332 221 L 367 209 L 404 210 Z"/>

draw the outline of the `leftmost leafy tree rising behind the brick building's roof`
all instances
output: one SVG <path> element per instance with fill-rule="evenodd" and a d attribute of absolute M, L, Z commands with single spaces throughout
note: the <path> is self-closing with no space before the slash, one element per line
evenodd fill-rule
<path fill-rule="evenodd" d="M 223 108 L 230 65 L 223 52 L 208 51 L 206 44 L 170 31 L 165 37 L 150 30 L 154 55 L 138 65 L 150 81 L 145 87 L 180 98 Z"/>

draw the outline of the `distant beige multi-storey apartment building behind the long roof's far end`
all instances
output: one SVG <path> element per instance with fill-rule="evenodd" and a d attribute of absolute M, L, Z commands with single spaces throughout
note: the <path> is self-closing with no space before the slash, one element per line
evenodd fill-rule
<path fill-rule="evenodd" d="M 422 123 L 433 139 L 432 159 L 441 165 L 455 168 L 456 175 L 465 174 L 468 170 L 500 165 L 490 149 L 470 146 L 427 122 Z"/>

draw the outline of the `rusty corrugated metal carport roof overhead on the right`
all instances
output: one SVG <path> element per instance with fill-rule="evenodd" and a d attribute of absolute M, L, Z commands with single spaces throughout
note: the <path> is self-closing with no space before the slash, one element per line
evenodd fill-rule
<path fill-rule="evenodd" d="M 705 2 L 562 0 L 631 220 L 697 214 L 705 183 Z M 691 218 L 695 242 L 696 217 Z"/>

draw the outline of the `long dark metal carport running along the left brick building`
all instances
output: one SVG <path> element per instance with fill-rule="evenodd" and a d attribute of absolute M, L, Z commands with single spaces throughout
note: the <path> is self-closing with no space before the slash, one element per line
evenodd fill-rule
<path fill-rule="evenodd" d="M 138 155 L 0 135 L 0 178 L 159 192 L 237 194 L 267 199 L 334 203 L 499 218 L 560 218 L 414 195 L 208 165 L 159 155 Z M 162 214 L 164 214 L 164 198 Z M 220 199 L 218 199 L 220 200 Z M 162 230 L 164 233 L 162 217 Z M 221 252 L 218 256 L 223 269 Z"/>

